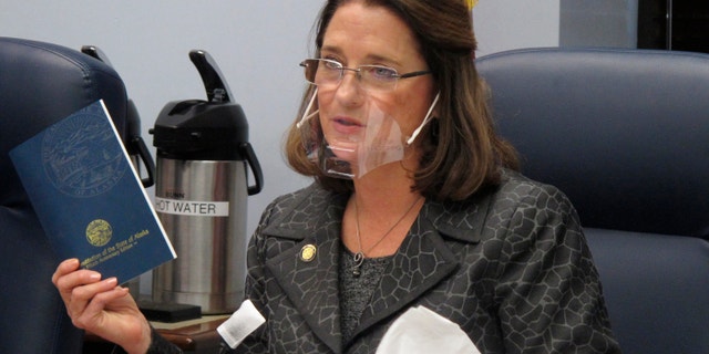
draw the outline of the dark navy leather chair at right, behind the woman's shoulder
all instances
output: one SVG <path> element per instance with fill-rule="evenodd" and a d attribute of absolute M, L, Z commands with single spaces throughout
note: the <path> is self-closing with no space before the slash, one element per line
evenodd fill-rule
<path fill-rule="evenodd" d="M 709 55 L 526 49 L 476 65 L 523 171 L 577 208 L 624 353 L 709 353 Z"/>

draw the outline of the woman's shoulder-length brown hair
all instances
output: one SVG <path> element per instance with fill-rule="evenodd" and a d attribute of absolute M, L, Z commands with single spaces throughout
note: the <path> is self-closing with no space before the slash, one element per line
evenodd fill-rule
<path fill-rule="evenodd" d="M 356 0 L 329 0 L 322 8 L 317 23 L 316 58 L 332 15 L 350 1 Z M 440 91 L 439 116 L 431 119 L 419 138 L 422 155 L 419 169 L 412 173 L 413 189 L 427 198 L 463 200 L 483 186 L 497 184 L 502 167 L 516 169 L 516 153 L 495 133 L 487 86 L 475 70 L 476 42 L 465 1 L 360 1 L 384 7 L 408 23 Z M 299 116 L 312 91 L 314 87 L 306 90 Z M 296 171 L 315 177 L 330 190 L 352 189 L 350 180 L 329 177 L 308 159 L 295 123 L 285 148 L 287 160 Z"/>

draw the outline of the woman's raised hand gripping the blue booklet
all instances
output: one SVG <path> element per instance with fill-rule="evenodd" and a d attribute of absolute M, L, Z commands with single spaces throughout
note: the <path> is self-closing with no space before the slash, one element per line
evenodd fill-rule
<path fill-rule="evenodd" d="M 147 351 L 150 324 L 115 278 L 102 280 L 99 272 L 79 269 L 79 260 L 69 259 L 56 267 L 52 282 L 75 326 L 116 343 L 129 353 Z"/>

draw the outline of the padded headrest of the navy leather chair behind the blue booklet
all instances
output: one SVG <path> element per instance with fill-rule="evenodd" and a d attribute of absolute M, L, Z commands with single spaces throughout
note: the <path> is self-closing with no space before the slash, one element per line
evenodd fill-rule
<path fill-rule="evenodd" d="M 127 98 L 111 66 L 65 46 L 0 37 L 1 205 L 23 195 L 8 152 L 101 98 L 123 134 Z"/>

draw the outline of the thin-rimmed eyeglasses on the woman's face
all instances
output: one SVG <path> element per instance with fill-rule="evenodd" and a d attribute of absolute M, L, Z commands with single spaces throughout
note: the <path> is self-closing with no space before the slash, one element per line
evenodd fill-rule
<path fill-rule="evenodd" d="M 431 73 L 429 70 L 422 70 L 399 74 L 395 69 L 383 65 L 347 67 L 329 59 L 306 59 L 300 63 L 300 66 L 305 67 L 306 80 L 322 88 L 332 88 L 339 85 L 342 82 L 346 70 L 353 71 L 362 88 L 368 91 L 391 91 L 397 87 L 397 82 L 400 79 Z"/>

